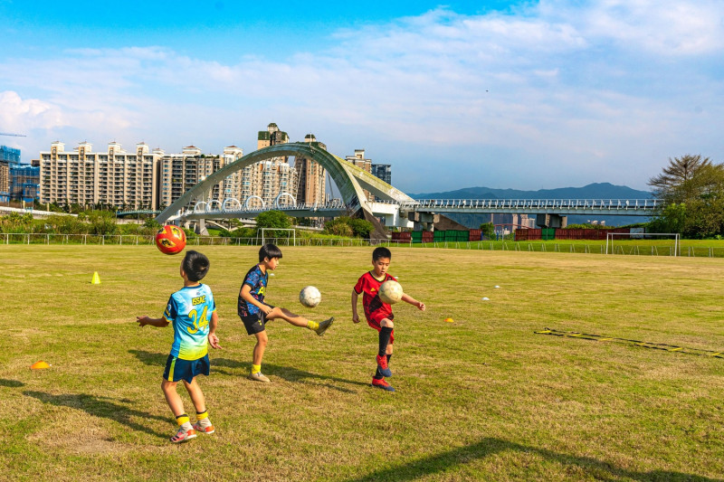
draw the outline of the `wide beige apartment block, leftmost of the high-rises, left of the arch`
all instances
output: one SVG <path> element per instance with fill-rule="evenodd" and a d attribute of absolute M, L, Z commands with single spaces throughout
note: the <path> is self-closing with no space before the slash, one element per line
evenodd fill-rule
<path fill-rule="evenodd" d="M 62 142 L 53 142 L 38 160 L 40 201 L 156 209 L 157 159 L 145 143 L 128 153 L 117 142 L 106 152 L 93 152 L 88 142 L 68 152 Z"/>

